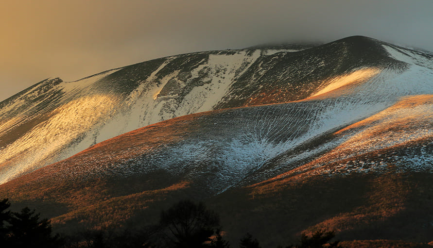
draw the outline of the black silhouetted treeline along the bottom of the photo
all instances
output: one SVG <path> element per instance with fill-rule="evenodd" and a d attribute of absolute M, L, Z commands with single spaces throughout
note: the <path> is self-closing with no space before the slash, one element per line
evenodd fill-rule
<path fill-rule="evenodd" d="M 8 199 L 0 201 L 0 247 L 46 248 L 261 248 L 260 242 L 246 233 L 239 244 L 225 240 L 219 215 L 203 203 L 182 200 L 162 211 L 159 223 L 139 231 L 87 230 L 75 235 L 52 234 L 48 219 L 24 208 L 19 213 L 8 211 Z M 278 248 L 337 248 L 333 231 L 316 231 L 301 235 L 296 245 Z M 3 246 L 4 245 L 4 246 Z"/>

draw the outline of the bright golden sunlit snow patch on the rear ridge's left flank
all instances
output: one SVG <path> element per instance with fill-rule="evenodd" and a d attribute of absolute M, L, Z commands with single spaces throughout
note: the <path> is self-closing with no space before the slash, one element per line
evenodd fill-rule
<path fill-rule="evenodd" d="M 32 164 L 34 169 L 39 164 L 44 164 L 44 160 L 52 157 L 52 154 L 56 154 L 109 114 L 113 106 L 113 99 L 97 95 L 83 97 L 55 109 L 48 120 L 41 122 L 0 151 L 1 165 L 10 158 L 18 158 L 13 167 L 0 168 L 0 183 L 7 182 L 21 171 L 27 170 L 29 164 Z"/>

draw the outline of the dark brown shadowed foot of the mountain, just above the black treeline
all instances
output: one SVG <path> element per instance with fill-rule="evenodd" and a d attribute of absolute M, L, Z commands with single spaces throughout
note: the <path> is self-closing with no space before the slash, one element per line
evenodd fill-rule
<path fill-rule="evenodd" d="M 233 188 L 214 197 L 201 192 L 193 182 L 172 179 L 170 184 L 168 179 L 153 175 L 96 180 L 86 187 L 57 185 L 58 195 L 45 198 L 37 194 L 37 189 L 32 191 L 34 198 L 10 198 L 16 208 L 28 205 L 45 213 L 44 216 L 48 213 L 55 230 L 66 232 L 155 224 L 162 209 L 180 199 L 192 198 L 205 200 L 221 215 L 226 237 L 232 244 L 237 244 L 248 231 L 263 247 L 276 247 L 296 243 L 300 232 L 317 228 L 336 230 L 337 237 L 346 241 L 386 239 L 393 244 L 392 240 L 400 239 L 430 242 L 432 237 L 431 173 L 397 173 L 391 167 L 381 175 L 284 178 Z M 139 190 L 145 187 L 141 184 L 162 185 L 164 181 L 169 184 L 167 187 Z M 132 192 L 134 184 L 136 192 L 126 193 Z M 69 201 L 65 200 L 68 198 Z M 358 243 L 351 246 L 352 243 L 345 244 L 357 247 Z"/>

